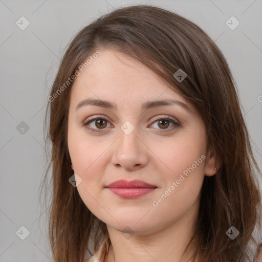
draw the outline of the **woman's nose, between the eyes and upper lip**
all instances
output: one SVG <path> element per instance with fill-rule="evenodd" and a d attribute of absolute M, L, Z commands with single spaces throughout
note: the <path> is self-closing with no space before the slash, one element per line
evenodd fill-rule
<path fill-rule="evenodd" d="M 120 136 L 114 143 L 112 164 L 126 170 L 136 170 L 144 167 L 148 162 L 147 146 L 138 137 L 136 128 L 126 134 L 120 129 Z"/>

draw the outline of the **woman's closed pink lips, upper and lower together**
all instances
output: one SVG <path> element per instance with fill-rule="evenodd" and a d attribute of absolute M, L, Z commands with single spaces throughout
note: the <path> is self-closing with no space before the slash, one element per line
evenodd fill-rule
<path fill-rule="evenodd" d="M 142 180 L 117 180 L 105 186 L 105 188 L 108 188 L 119 197 L 134 199 L 154 191 L 157 186 L 148 184 Z"/>

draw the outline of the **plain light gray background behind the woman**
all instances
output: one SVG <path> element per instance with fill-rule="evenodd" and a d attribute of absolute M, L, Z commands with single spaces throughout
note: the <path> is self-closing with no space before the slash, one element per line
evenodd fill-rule
<path fill-rule="evenodd" d="M 262 168 L 262 0 L 0 0 L 0 261 L 51 261 L 47 224 L 40 223 L 46 213 L 38 204 L 38 187 L 47 162 L 43 119 L 48 92 L 59 59 L 79 29 L 104 12 L 133 4 L 174 11 L 215 41 L 236 80 L 254 154 Z M 25 30 L 16 25 L 21 16 L 30 21 Z M 226 25 L 231 16 L 240 23 L 234 30 Z M 21 226 L 30 231 L 24 241 L 16 234 L 19 229 L 21 235 Z"/>

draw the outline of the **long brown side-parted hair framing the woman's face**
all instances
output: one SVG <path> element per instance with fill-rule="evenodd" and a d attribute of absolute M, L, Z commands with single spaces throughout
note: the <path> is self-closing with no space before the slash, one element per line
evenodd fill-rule
<path fill-rule="evenodd" d="M 91 246 L 97 250 L 108 234 L 105 223 L 91 213 L 77 188 L 69 183 L 73 171 L 67 132 L 73 81 L 57 93 L 81 63 L 104 48 L 142 62 L 189 99 L 204 120 L 208 148 L 221 167 L 214 176 L 204 178 L 197 231 L 192 238 L 198 239 L 194 258 L 202 262 L 252 261 L 249 244 L 258 244 L 252 232 L 256 224 L 260 229 L 261 217 L 255 169 L 259 176 L 261 172 L 226 59 L 197 25 L 176 13 L 147 5 L 119 8 L 95 19 L 71 41 L 60 63 L 46 112 L 52 159 L 45 181 L 52 164 L 49 238 L 54 260 L 83 262 L 85 252 L 93 254 Z M 187 74 L 182 82 L 173 77 L 178 69 Z M 231 226 L 239 231 L 234 240 L 226 234 Z"/>

